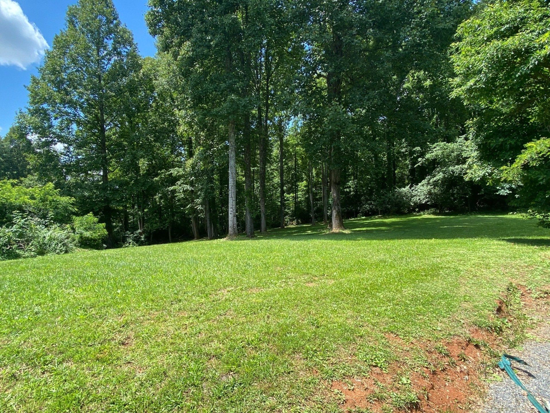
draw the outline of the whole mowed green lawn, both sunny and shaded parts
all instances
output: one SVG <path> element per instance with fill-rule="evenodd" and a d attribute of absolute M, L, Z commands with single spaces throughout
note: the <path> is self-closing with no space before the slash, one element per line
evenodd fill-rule
<path fill-rule="evenodd" d="M 346 227 L 0 263 L 0 411 L 336 412 L 384 333 L 465 335 L 511 279 L 550 283 L 550 231 L 517 216 Z"/>

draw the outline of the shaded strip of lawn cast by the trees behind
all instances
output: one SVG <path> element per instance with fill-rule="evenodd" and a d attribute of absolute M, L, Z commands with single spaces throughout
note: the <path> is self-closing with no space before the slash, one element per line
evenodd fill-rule
<path fill-rule="evenodd" d="M 345 232 L 332 233 L 323 224 L 303 224 L 285 229 L 273 229 L 266 235 L 259 235 L 255 239 L 266 240 L 276 237 L 297 240 L 304 238 L 329 240 L 342 238 L 346 241 L 368 241 L 493 238 L 508 242 L 550 246 L 550 231 L 547 231 L 548 238 L 544 237 L 546 233 L 541 233 L 542 237 L 528 238 L 533 236 L 535 225 L 506 215 L 371 217 L 347 220 L 345 227 Z"/>

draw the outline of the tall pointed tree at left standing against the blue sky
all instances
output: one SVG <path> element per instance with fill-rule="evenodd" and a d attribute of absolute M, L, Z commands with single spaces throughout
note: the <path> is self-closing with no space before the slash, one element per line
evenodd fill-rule
<path fill-rule="evenodd" d="M 52 127 L 70 159 L 74 192 L 101 211 L 108 247 L 114 244 L 109 173 L 120 155 L 114 148 L 131 93 L 127 81 L 140 67 L 131 32 L 112 1 L 79 0 L 68 8 L 66 28 L 54 37 L 29 86 L 29 111 L 54 119 Z"/>

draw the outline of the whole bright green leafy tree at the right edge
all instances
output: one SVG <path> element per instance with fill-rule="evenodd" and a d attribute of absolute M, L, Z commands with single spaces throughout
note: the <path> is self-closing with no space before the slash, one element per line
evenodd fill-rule
<path fill-rule="evenodd" d="M 543 224 L 550 171 L 548 21 L 543 0 L 480 4 L 459 26 L 452 55 L 453 93 L 474 114 L 469 135 L 480 149 L 470 175 L 494 180 L 504 172 L 504 182 L 517 190 L 514 205 Z"/>

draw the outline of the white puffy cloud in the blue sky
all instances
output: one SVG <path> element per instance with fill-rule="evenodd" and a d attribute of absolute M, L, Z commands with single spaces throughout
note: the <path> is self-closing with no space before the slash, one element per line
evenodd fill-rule
<path fill-rule="evenodd" d="M 48 44 L 13 0 L 0 0 L 0 64 L 25 69 L 40 62 Z"/>

